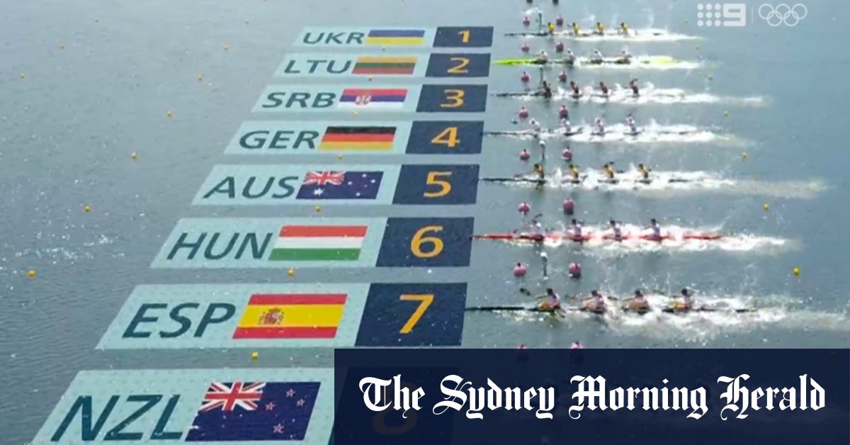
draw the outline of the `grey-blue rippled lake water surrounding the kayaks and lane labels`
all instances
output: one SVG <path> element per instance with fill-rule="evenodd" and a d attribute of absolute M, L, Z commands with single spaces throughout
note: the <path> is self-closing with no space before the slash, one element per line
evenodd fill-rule
<path fill-rule="evenodd" d="M 700 171 L 758 181 L 736 191 L 691 193 L 569 191 L 481 184 L 474 206 L 327 208 L 324 216 L 473 216 L 477 233 L 504 232 L 520 223 L 516 206 L 531 204 L 547 225 L 564 222 L 560 203 L 575 200 L 581 219 L 615 218 L 645 224 L 713 228 L 786 240 L 779 248 L 725 251 L 623 252 L 572 246 L 547 247 L 549 279 L 541 280 L 540 248 L 476 242 L 469 268 L 299 271 L 286 278 L 272 270 L 151 270 L 150 262 L 179 218 L 310 216 L 312 208 L 200 208 L 190 203 L 212 167 L 256 163 L 224 155 L 224 145 L 246 120 L 258 95 L 303 26 L 496 26 L 494 59 L 521 57 L 519 37 L 528 5 L 488 0 L 364 0 L 221 3 L 139 2 L 8 3 L 0 14 L 0 369 L 10 392 L 0 402 L 3 443 L 30 441 L 49 410 L 81 369 L 225 368 L 251 366 L 246 350 L 95 351 L 105 328 L 138 284 L 215 282 L 467 282 L 467 305 L 519 304 L 528 297 L 510 270 L 530 264 L 522 285 L 562 294 L 601 288 L 615 294 L 634 288 L 675 292 L 689 286 L 706 299 L 766 309 L 746 316 L 513 317 L 471 313 L 463 346 L 562 347 L 576 339 L 588 347 L 846 347 L 848 238 L 847 155 L 844 137 L 850 100 L 844 39 L 850 3 L 808 5 L 795 27 L 770 27 L 757 16 L 743 28 L 696 26 L 696 3 L 572 2 L 555 8 L 537 2 L 553 20 L 625 20 L 703 37 L 633 43 L 632 54 L 702 60 L 693 71 L 575 70 L 582 84 L 626 83 L 639 77 L 657 88 L 683 88 L 726 98 L 761 96 L 756 105 L 734 100 L 701 104 L 570 106 L 573 122 L 604 116 L 621 122 L 686 124 L 734 135 L 734 141 L 575 144 L 575 162 L 598 167 L 614 160 L 624 168 L 649 163 L 657 170 Z M 756 3 L 750 6 L 758 6 Z M 527 40 L 534 49 L 554 43 Z M 623 43 L 571 43 L 576 54 L 615 52 Z M 224 45 L 228 49 L 224 49 Z M 328 49 L 328 51 L 331 51 Z M 518 91 L 522 68 L 493 66 L 491 92 Z M 550 80 L 553 73 L 550 73 Z M 536 74 L 536 73 L 535 73 Z M 197 77 L 202 75 L 203 80 Z M 711 75 L 713 80 L 708 80 Z M 305 81 L 318 83 L 319 81 Z M 343 81 L 336 81 L 343 82 Z M 408 81 L 419 82 L 418 80 Z M 437 81 L 439 83 L 439 81 Z M 400 84 L 400 83 L 399 83 Z M 517 129 L 519 106 L 544 124 L 557 123 L 558 102 L 490 98 L 488 129 Z M 173 117 L 167 118 L 167 111 Z M 728 116 L 724 116 L 728 111 Z M 350 118 L 337 115 L 340 119 Z M 330 120 L 313 115 L 299 119 Z M 410 119 L 387 116 L 387 119 Z M 450 117 L 453 118 L 453 117 Z M 549 146 L 547 169 L 563 168 L 562 144 Z M 521 148 L 536 142 L 487 138 L 483 176 L 522 173 Z M 744 160 L 741 151 L 748 157 Z M 137 152 L 133 162 L 131 153 Z M 283 162 L 275 159 L 271 162 Z M 453 157 L 349 157 L 348 162 L 447 163 Z M 263 161 L 269 162 L 269 161 Z M 288 162 L 288 159 L 287 159 Z M 309 162 L 309 158 L 303 158 Z M 793 183 L 788 185 L 787 183 Z M 811 187 L 813 192 L 800 192 Z M 801 196 L 802 195 L 802 196 Z M 769 211 L 763 209 L 769 203 Z M 86 213 L 83 206 L 91 206 Z M 579 282 L 565 277 L 580 261 Z M 794 277 L 798 267 L 802 273 Z M 37 277 L 27 277 L 27 271 Z M 332 351 L 263 352 L 263 367 L 331 366 Z"/>

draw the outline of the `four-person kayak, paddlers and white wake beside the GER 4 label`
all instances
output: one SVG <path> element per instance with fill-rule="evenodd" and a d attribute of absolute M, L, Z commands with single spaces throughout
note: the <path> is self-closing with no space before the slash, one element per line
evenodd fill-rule
<path fill-rule="evenodd" d="M 533 126 L 533 124 L 532 124 Z M 624 142 L 626 144 L 647 144 L 654 142 L 674 143 L 704 143 L 734 141 L 731 134 L 719 134 L 710 128 L 700 128 L 694 125 L 674 124 L 662 125 L 650 120 L 649 124 L 638 127 L 637 133 L 632 132 L 626 124 L 615 123 L 604 127 L 604 132 L 596 125 L 581 123 L 569 128 L 536 128 L 524 130 L 485 131 L 489 136 L 513 136 L 521 139 L 552 139 L 564 138 L 573 142 Z"/>

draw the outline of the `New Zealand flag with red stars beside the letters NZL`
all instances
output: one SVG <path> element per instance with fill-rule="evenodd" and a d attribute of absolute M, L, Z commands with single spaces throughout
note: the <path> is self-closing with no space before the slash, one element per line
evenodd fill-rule
<path fill-rule="evenodd" d="M 212 382 L 186 442 L 301 441 L 318 382 Z"/>

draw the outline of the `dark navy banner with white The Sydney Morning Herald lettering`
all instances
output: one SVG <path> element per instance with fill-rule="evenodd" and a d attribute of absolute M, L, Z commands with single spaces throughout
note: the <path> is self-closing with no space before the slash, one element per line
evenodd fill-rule
<path fill-rule="evenodd" d="M 334 445 L 847 445 L 848 350 L 337 349 Z"/>

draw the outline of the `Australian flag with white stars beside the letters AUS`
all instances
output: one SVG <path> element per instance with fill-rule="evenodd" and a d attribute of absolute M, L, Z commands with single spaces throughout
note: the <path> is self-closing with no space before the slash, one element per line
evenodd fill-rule
<path fill-rule="evenodd" d="M 307 172 L 296 199 L 375 199 L 383 172 Z"/>

